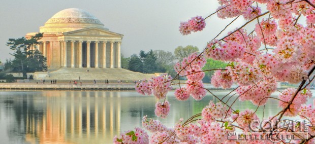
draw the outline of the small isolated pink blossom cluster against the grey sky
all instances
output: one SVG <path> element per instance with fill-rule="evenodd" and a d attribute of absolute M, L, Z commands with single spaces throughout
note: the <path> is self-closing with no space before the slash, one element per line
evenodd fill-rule
<path fill-rule="evenodd" d="M 206 27 L 206 23 L 201 16 L 193 17 L 187 22 L 180 22 L 179 31 L 183 35 L 191 34 L 191 32 L 201 31 Z"/>

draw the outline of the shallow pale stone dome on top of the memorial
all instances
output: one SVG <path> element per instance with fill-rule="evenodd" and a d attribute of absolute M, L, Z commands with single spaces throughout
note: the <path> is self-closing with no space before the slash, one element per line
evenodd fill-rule
<path fill-rule="evenodd" d="M 71 8 L 53 15 L 44 26 L 40 27 L 40 32 L 68 32 L 90 27 L 104 28 L 104 24 L 82 9 Z"/>

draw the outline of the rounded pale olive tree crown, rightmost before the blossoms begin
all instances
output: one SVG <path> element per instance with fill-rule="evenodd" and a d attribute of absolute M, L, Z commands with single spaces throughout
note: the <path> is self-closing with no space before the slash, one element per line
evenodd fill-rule
<path fill-rule="evenodd" d="M 188 45 L 186 47 L 179 46 L 175 49 L 174 55 L 177 60 L 181 61 L 184 57 L 187 57 L 194 52 L 199 52 L 198 47 L 194 47 L 192 45 Z"/>

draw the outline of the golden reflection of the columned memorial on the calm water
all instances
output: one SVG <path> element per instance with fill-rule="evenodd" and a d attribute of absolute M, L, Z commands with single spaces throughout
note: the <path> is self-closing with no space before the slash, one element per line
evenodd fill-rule
<path fill-rule="evenodd" d="M 26 118 L 26 141 L 100 143 L 118 134 L 121 104 L 112 92 L 109 95 L 75 91 L 68 92 L 70 96 L 50 94 L 55 95 L 53 91 L 47 93 L 46 114 L 42 118 Z"/>

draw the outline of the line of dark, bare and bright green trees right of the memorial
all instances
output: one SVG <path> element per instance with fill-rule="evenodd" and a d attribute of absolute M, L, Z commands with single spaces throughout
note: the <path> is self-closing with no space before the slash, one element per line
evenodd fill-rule
<path fill-rule="evenodd" d="M 176 62 L 181 61 L 184 57 L 189 56 L 194 52 L 199 52 L 198 47 L 188 45 L 186 47 L 178 46 L 174 53 L 164 50 L 149 50 L 145 52 L 141 50 L 139 55 L 133 54 L 130 57 L 121 58 L 122 68 L 131 71 L 153 74 L 153 73 L 168 73 L 173 78 L 176 76 L 174 65 Z M 205 69 L 222 68 L 226 67 L 227 63 L 207 59 Z M 213 71 L 205 71 L 205 83 L 209 83 Z"/>

